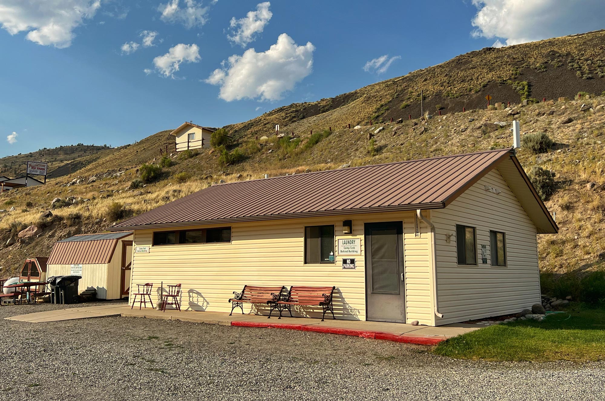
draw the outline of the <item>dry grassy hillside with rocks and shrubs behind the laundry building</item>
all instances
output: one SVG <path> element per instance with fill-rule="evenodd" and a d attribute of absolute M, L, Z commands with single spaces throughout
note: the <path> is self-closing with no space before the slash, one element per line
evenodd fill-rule
<path fill-rule="evenodd" d="M 599 50 L 604 36 L 597 32 L 483 49 L 336 98 L 281 107 L 249 122 L 227 126 L 235 142 L 222 151 L 203 150 L 160 159 L 160 148 L 174 143 L 169 131 L 161 131 L 135 144 L 100 152 L 94 160 L 76 159 L 84 164 L 72 176 L 80 178 L 80 184 L 59 177 L 44 187 L 0 195 L 0 209 L 15 208 L 0 213 L 0 266 L 4 267 L 0 276 L 7 275 L 3 271 L 15 270 L 27 256 L 47 256 L 58 239 L 101 231 L 116 220 L 208 185 L 258 178 L 265 173 L 298 174 L 344 164 L 506 148 L 512 145 L 508 128 L 513 119 L 520 120 L 524 136 L 543 132 L 555 142 L 541 154 L 526 148 L 518 152 L 526 171 L 540 165 L 556 174 L 556 190 L 546 204 L 556 213 L 561 232 L 540 236 L 541 269 L 599 269 L 605 259 L 601 244 L 605 231 L 605 96 L 601 95 L 605 79 L 600 76 L 605 76 L 605 63 L 600 59 L 605 53 L 603 48 Z M 577 68 L 592 78 L 578 77 Z M 420 99 L 415 88 L 420 86 L 426 96 L 425 110 L 432 118 L 419 118 Z M 494 98 L 492 104 L 510 101 L 512 108 L 488 110 L 483 99 L 488 91 Z M 580 91 L 586 93 L 573 100 Z M 560 96 L 571 100 L 558 101 Z M 523 105 L 522 98 L 554 101 Z M 443 107 L 442 116 L 437 104 Z M 413 114 L 412 120 L 407 119 L 408 114 Z M 393 121 L 404 119 L 390 123 L 391 117 Z M 563 120 L 566 124 L 561 124 Z M 504 123 L 500 124 L 504 127 L 495 122 Z M 281 125 L 282 133 L 295 135 L 277 138 L 272 132 L 275 124 Z M 348 128 L 348 124 L 361 128 Z M 383 129 L 373 134 L 380 127 Z M 161 167 L 157 179 L 147 183 L 141 182 L 145 163 L 158 166 L 158 170 Z M 41 217 L 56 197 L 74 197 L 76 202 L 52 209 L 50 218 Z M 31 224 L 42 228 L 40 236 L 4 245 Z"/>

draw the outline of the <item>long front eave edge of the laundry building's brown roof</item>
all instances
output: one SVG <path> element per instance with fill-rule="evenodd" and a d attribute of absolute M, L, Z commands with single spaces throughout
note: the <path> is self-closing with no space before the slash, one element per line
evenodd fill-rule
<path fill-rule="evenodd" d="M 443 209 L 445 204 L 443 202 L 435 202 L 430 204 L 410 204 L 410 205 L 397 205 L 387 207 L 374 207 L 374 208 L 360 208 L 360 209 L 346 209 L 346 210 L 322 210 L 322 211 L 310 211 L 307 213 L 290 213 L 290 214 L 272 214 L 269 216 L 248 216 L 248 217 L 234 217 L 232 219 L 213 219 L 213 220 L 194 220 L 188 222 L 171 222 L 171 223 L 158 223 L 158 224 L 144 224 L 144 225 L 129 225 L 120 227 L 107 227 L 108 231 L 123 231 L 123 230 L 146 230 L 150 228 L 172 228 L 172 227 L 186 227 L 193 225 L 209 225 L 209 224 L 227 224 L 227 223 L 238 223 L 238 222 L 252 222 L 252 221 L 263 221 L 263 220 L 281 220 L 281 219 L 296 219 L 299 217 L 317 217 L 317 216 L 342 216 L 345 214 L 365 214 L 365 213 L 380 213 L 390 211 L 411 211 L 417 209 L 429 210 L 429 209 Z"/>

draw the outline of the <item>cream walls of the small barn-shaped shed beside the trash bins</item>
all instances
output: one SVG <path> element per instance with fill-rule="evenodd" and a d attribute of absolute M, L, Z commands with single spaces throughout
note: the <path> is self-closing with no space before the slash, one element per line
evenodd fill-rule
<path fill-rule="evenodd" d="M 132 240 L 132 236 L 119 239 L 116 250 L 109 263 L 82 265 L 82 279 L 78 283 L 78 292 L 89 287 L 97 290 L 98 299 L 122 298 L 122 241 Z M 48 265 L 47 277 L 68 276 L 71 265 Z"/>

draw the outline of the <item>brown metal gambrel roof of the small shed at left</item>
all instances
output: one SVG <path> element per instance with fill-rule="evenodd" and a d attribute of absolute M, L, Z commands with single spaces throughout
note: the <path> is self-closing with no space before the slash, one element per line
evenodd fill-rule
<path fill-rule="evenodd" d="M 106 234 L 106 233 L 104 233 Z M 54 244 L 48 257 L 49 265 L 93 265 L 111 261 L 117 242 L 132 235 L 132 232 L 110 233 L 110 239 L 80 240 L 81 237 L 103 236 L 104 234 L 85 234 L 60 240 Z M 116 234 L 122 234 L 116 237 Z M 75 239 L 74 238 L 78 238 Z"/>

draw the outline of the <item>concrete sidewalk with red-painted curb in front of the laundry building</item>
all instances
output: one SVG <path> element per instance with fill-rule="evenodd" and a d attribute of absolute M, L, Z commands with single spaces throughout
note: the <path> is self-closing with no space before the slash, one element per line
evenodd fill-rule
<path fill-rule="evenodd" d="M 445 326 L 412 326 L 404 323 L 364 322 L 360 320 L 333 320 L 308 317 L 271 317 L 253 314 L 234 314 L 197 311 L 157 311 L 151 308 L 132 309 L 126 305 L 68 308 L 47 312 L 30 313 L 5 319 L 21 322 L 59 322 L 61 320 L 86 319 L 90 317 L 147 317 L 148 319 L 182 320 L 185 322 L 207 323 L 225 326 L 281 328 L 317 333 L 344 334 L 364 338 L 391 340 L 396 342 L 432 345 L 450 337 L 481 328 L 477 325 L 456 323 Z"/>

